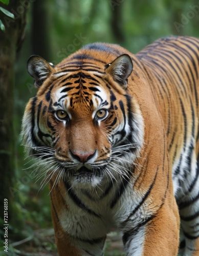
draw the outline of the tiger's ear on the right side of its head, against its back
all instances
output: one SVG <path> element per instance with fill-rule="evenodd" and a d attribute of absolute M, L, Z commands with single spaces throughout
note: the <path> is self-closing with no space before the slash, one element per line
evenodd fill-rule
<path fill-rule="evenodd" d="M 114 80 L 118 82 L 123 89 L 128 86 L 127 78 L 132 72 L 132 60 L 128 54 L 122 54 L 112 63 L 105 65 L 105 72 L 112 75 Z"/>

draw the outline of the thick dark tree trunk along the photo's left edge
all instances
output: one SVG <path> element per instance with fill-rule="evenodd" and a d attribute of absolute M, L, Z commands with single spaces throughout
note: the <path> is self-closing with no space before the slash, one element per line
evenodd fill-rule
<path fill-rule="evenodd" d="M 14 173 L 14 131 L 13 131 L 13 89 L 14 63 L 23 39 L 26 25 L 26 13 L 29 1 L 11 0 L 8 6 L 1 7 L 12 12 L 12 19 L 0 11 L 0 19 L 5 25 L 5 33 L 0 30 L 0 207 L 4 214 L 4 199 L 8 199 L 9 218 L 12 218 L 12 189 Z M 9 219 L 10 221 L 10 219 Z"/>

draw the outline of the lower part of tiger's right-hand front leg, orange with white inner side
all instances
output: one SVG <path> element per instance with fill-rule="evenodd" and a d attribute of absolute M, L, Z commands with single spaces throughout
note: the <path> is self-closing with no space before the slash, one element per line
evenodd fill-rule
<path fill-rule="evenodd" d="M 127 256 L 176 256 L 179 247 L 179 221 L 172 209 L 164 204 L 155 216 L 145 218 L 137 227 L 123 232 Z"/>

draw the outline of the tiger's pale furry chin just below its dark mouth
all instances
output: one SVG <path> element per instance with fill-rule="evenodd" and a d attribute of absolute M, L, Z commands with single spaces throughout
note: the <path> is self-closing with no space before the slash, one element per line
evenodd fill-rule
<path fill-rule="evenodd" d="M 89 169 L 82 166 L 70 178 L 72 187 L 95 187 L 98 186 L 103 179 L 103 175 L 99 170 Z"/>

